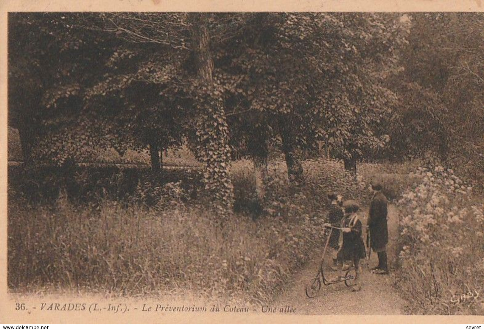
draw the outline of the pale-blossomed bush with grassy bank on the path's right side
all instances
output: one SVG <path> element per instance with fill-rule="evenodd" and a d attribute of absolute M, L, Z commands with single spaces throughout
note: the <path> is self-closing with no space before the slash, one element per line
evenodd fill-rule
<path fill-rule="evenodd" d="M 411 314 L 482 314 L 484 208 L 472 186 L 442 166 L 419 167 L 398 201 L 401 213 L 397 286 Z M 479 295 L 479 294 L 477 294 Z"/>

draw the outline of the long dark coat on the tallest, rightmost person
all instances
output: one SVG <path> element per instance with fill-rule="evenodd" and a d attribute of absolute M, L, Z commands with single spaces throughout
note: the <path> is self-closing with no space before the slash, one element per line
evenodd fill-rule
<path fill-rule="evenodd" d="M 381 191 L 376 192 L 371 200 L 368 229 L 373 251 L 385 249 L 388 243 L 387 199 Z"/>

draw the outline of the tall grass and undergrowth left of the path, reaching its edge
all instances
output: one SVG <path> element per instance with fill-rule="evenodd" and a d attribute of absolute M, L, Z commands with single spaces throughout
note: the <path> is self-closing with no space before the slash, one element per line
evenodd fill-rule
<path fill-rule="evenodd" d="M 247 173 L 244 166 L 234 170 L 241 191 L 253 189 Z M 65 193 L 53 205 L 11 200 L 10 288 L 130 297 L 190 294 L 261 304 L 322 246 L 321 222 L 309 219 L 303 193 L 287 197 L 285 212 L 257 221 L 236 213 L 220 225 L 216 213 L 183 203 L 183 190 L 176 183 L 164 189 L 168 186 L 176 193 L 165 193 L 151 207 L 107 198 L 91 207 L 73 204 Z"/>

